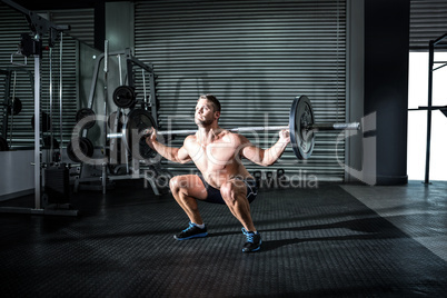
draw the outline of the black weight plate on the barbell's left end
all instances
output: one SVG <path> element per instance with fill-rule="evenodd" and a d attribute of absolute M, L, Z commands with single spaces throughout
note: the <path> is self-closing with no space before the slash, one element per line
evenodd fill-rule
<path fill-rule="evenodd" d="M 132 149 L 139 148 L 139 153 L 142 158 L 153 158 L 157 152 L 155 152 L 149 145 L 146 143 L 146 139 L 142 136 L 142 131 L 148 128 L 156 126 L 156 121 L 149 111 L 143 109 L 135 109 L 127 116 L 127 121 L 123 126 L 123 141 L 132 153 Z"/>

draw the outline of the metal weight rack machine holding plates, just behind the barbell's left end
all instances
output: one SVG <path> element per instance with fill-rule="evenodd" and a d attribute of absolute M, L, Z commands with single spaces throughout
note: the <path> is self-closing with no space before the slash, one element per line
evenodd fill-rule
<path fill-rule="evenodd" d="M 118 59 L 119 83 L 112 93 L 115 105 L 110 105 L 111 102 L 109 103 L 108 100 L 110 86 L 108 72 L 110 71 L 110 61 L 115 57 Z M 95 102 L 98 98 L 96 91 L 101 66 L 103 66 L 105 85 L 103 107 L 101 107 L 102 101 L 99 105 Z M 141 71 L 141 76 L 139 76 L 139 71 Z M 148 177 L 147 172 L 159 173 L 163 169 L 161 169 L 160 165 L 141 165 L 141 161 L 149 157 L 147 156 L 149 151 L 145 147 L 141 147 L 139 151 L 140 157 L 135 158 L 136 155 L 132 148 L 123 146 L 115 139 L 105 138 L 100 140 L 102 146 L 95 146 L 95 140 L 91 141 L 88 138 L 89 130 L 96 125 L 105 136 L 108 135 L 107 131 L 113 133 L 122 128 L 128 129 L 141 126 L 141 122 L 145 126 L 158 127 L 155 85 L 155 73 L 151 64 L 138 60 L 132 56 L 130 49 L 108 52 L 108 41 L 106 40 L 105 52 L 96 57 L 87 107 L 78 111 L 72 139 L 67 146 L 68 157 L 80 165 L 79 175 L 74 180 L 74 191 L 79 189 L 102 189 L 102 192 L 106 193 L 108 188 L 113 187 L 113 180 L 143 178 L 146 179 L 145 186 L 146 181 L 148 181 L 153 192 L 160 195 L 153 181 L 153 176 Z M 140 97 L 141 93 L 142 98 Z M 103 110 L 96 112 L 95 107 L 97 111 L 99 109 Z M 87 158 L 82 158 L 82 156 Z M 165 173 L 169 172 L 165 170 Z"/>

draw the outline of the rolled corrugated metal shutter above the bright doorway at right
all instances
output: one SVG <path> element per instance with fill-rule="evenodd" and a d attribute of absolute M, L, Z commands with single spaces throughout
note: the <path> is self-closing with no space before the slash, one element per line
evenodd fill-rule
<path fill-rule="evenodd" d="M 428 42 L 445 33 L 447 33 L 446 0 L 410 1 L 410 50 L 428 51 Z"/>

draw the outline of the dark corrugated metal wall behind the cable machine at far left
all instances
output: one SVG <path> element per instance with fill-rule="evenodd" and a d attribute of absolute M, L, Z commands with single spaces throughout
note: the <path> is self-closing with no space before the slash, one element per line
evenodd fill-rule
<path fill-rule="evenodd" d="M 10 63 L 10 56 L 17 52 L 20 42 L 20 34 L 30 32 L 26 18 L 12 8 L 0 3 L 0 68 L 13 67 Z M 92 43 L 93 40 L 93 10 L 67 10 L 67 11 L 44 11 L 39 12 L 57 24 L 70 24 L 71 30 L 62 34 L 62 67 L 60 67 L 60 43 L 56 42 L 52 54 L 44 51 L 41 62 L 41 110 L 51 115 L 50 100 L 52 101 L 52 128 L 53 136 L 60 142 L 60 76 L 62 74 L 62 135 L 63 143 L 71 135 L 74 126 L 74 116 L 78 110 L 79 90 L 77 63 L 79 56 L 79 41 L 72 36 Z M 43 46 L 48 44 L 48 36 L 43 38 Z M 52 89 L 50 92 L 50 57 L 52 57 Z M 16 57 L 18 62 L 23 62 L 23 58 Z M 33 57 L 28 58 L 28 66 L 24 69 L 33 74 Z M 62 72 L 60 71 L 62 69 Z M 3 80 L 3 78 L 1 78 Z M 1 83 L 1 95 L 3 95 L 4 83 Z M 12 147 L 33 147 L 33 130 L 31 118 L 33 116 L 33 93 L 30 81 L 26 72 L 19 71 L 17 79 L 16 93 L 23 102 L 23 110 L 14 117 L 12 130 Z M 50 93 L 52 95 L 50 97 Z M 3 97 L 0 98 L 3 100 Z M 2 109 L 0 109 L 2 110 Z M 1 115 L 1 119 L 3 115 Z M 2 121 L 1 121 L 2 122 Z M 44 133 L 49 136 L 50 132 Z"/>

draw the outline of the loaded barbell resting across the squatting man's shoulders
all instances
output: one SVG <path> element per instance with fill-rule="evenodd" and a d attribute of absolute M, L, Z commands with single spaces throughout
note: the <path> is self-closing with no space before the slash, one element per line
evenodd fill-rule
<path fill-rule="evenodd" d="M 133 146 L 139 146 L 140 155 L 142 157 L 152 157 L 153 150 L 149 148 L 145 140 L 145 132 L 148 129 L 155 127 L 155 121 L 149 112 L 141 109 L 132 110 L 128 115 L 128 120 L 122 127 L 120 133 L 108 133 L 109 139 L 121 138 L 127 149 L 132 152 Z M 308 159 L 314 150 L 315 146 L 315 132 L 327 130 L 359 130 L 359 122 L 349 123 L 316 123 L 314 110 L 310 105 L 310 100 L 306 96 L 298 96 L 294 99 L 294 102 L 289 112 L 288 126 L 268 126 L 268 127 L 239 127 L 228 129 L 232 132 L 244 131 L 259 131 L 259 130 L 284 130 L 290 131 L 290 143 L 294 153 L 298 159 Z M 131 132 L 138 133 L 132 135 Z M 168 130 L 157 131 L 158 135 L 191 135 L 197 130 Z"/>

